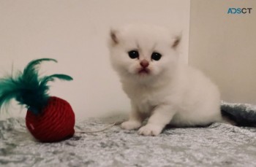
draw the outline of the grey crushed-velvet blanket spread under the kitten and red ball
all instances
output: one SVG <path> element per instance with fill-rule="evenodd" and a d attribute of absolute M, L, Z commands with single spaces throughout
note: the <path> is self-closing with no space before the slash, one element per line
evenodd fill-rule
<path fill-rule="evenodd" d="M 2 120 L 0 166 L 256 166 L 256 128 L 213 123 L 139 136 L 115 125 L 101 132 L 78 132 L 96 131 L 121 120 L 80 121 L 75 136 L 56 143 L 35 141 L 23 118 Z"/>

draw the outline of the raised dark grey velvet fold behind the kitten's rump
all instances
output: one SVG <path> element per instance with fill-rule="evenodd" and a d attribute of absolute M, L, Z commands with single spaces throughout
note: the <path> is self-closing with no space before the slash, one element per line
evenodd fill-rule
<path fill-rule="evenodd" d="M 222 117 L 231 120 L 235 125 L 256 127 L 256 106 L 252 104 L 222 103 L 221 111 Z"/>

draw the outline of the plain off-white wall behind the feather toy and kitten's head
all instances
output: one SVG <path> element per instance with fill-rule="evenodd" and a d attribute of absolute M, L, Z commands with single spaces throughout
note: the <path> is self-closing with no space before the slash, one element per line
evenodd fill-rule
<path fill-rule="evenodd" d="M 183 31 L 182 58 L 187 61 L 189 0 L 0 0 L 0 76 L 23 69 L 35 58 L 44 74 L 64 73 L 72 82 L 54 82 L 50 94 L 72 104 L 76 117 L 127 112 L 129 100 L 108 60 L 110 27 L 155 23 Z M 12 106 L 10 116 L 20 113 Z M 18 111 L 17 111 L 18 110 Z M 23 115 L 26 112 L 22 112 Z"/>

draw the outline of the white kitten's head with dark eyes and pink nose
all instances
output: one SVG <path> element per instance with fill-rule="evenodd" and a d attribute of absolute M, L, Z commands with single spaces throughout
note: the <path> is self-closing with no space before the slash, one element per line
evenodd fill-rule
<path fill-rule="evenodd" d="M 162 27 L 124 26 L 110 31 L 110 59 L 121 77 L 154 78 L 176 66 L 179 41 Z"/>

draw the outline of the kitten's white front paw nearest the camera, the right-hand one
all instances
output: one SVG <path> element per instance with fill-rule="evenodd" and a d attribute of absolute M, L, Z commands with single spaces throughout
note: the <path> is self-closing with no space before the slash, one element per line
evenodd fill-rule
<path fill-rule="evenodd" d="M 162 127 L 159 125 L 147 124 L 141 127 L 138 131 L 140 135 L 157 136 L 162 132 Z"/>

